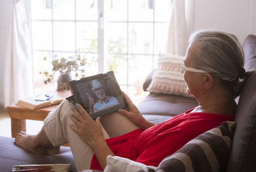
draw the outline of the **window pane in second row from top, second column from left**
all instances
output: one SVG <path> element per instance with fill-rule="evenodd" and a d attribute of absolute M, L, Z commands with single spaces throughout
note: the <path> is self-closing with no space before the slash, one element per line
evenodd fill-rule
<path fill-rule="evenodd" d="M 75 24 L 74 22 L 54 22 L 54 50 L 75 51 Z"/>

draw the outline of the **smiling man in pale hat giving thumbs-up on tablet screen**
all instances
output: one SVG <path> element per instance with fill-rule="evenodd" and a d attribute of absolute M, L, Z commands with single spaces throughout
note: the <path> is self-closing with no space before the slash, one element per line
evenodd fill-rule
<path fill-rule="evenodd" d="M 87 94 L 89 98 L 89 104 L 90 104 L 90 108 L 89 108 L 90 113 L 95 113 L 97 111 L 101 111 L 106 108 L 110 108 L 112 106 L 119 104 L 115 97 L 106 96 L 104 87 L 99 82 L 99 80 L 92 80 L 92 91 L 96 95 L 98 101 L 95 103 L 93 97 L 90 97 L 89 94 Z"/>

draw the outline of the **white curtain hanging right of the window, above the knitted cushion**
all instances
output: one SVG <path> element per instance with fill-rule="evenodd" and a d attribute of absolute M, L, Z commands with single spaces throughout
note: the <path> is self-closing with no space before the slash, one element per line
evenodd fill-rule
<path fill-rule="evenodd" d="M 186 0 L 173 0 L 166 53 L 185 55 L 188 48 L 189 27 L 186 19 Z"/>

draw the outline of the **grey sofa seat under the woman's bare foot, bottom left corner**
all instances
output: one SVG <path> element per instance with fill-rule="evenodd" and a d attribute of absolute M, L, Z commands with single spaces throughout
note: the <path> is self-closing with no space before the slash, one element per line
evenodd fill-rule
<path fill-rule="evenodd" d="M 61 147 L 60 154 L 38 155 L 31 154 L 17 147 L 14 138 L 0 136 L 0 167 L 1 172 L 12 171 L 13 165 L 25 164 L 72 164 L 70 171 L 76 171 L 74 158 L 69 147 Z"/>

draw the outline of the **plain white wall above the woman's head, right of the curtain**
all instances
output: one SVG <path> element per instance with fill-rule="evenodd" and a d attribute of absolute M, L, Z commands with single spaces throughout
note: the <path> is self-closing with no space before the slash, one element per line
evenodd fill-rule
<path fill-rule="evenodd" d="M 241 43 L 248 34 L 256 34 L 255 0 L 194 0 L 193 13 L 193 30 L 220 29 Z"/>

